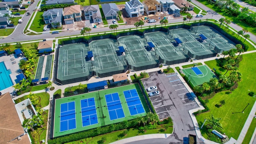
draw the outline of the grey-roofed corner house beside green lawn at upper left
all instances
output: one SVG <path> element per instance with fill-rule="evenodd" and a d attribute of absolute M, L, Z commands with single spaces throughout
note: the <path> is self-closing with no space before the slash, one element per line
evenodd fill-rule
<path fill-rule="evenodd" d="M 44 11 L 43 18 L 45 24 L 51 24 L 53 28 L 62 26 L 63 8 L 54 8 Z"/>

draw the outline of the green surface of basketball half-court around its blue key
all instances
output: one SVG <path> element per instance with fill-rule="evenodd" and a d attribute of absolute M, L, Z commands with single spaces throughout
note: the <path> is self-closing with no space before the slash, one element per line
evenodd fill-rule
<path fill-rule="evenodd" d="M 209 82 L 211 78 L 216 77 L 207 65 L 195 66 L 195 68 L 198 68 L 202 72 L 202 74 L 198 75 L 194 70 L 192 70 L 192 68 L 184 68 L 182 69 L 182 72 L 188 77 L 194 86 L 202 85 L 204 82 Z"/>

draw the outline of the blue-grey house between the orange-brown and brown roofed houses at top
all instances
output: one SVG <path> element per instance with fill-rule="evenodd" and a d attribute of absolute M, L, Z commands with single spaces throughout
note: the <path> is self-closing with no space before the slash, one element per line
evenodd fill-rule
<path fill-rule="evenodd" d="M 180 16 L 180 8 L 178 8 L 174 1 L 172 0 L 157 0 L 161 4 L 161 11 L 162 12 L 169 12 L 170 14 L 173 14 L 174 17 Z"/>

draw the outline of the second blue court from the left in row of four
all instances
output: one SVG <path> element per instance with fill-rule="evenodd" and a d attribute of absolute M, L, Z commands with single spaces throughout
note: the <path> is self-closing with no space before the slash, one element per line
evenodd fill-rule
<path fill-rule="evenodd" d="M 81 102 L 81 113 L 82 113 L 82 125 L 90 126 L 98 124 L 98 117 L 96 112 L 96 106 L 94 98 L 86 98 L 80 100 Z"/>

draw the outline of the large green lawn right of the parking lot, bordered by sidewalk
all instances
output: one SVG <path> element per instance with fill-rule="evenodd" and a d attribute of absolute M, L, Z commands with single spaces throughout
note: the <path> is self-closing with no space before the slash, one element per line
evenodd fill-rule
<path fill-rule="evenodd" d="M 256 62 L 255 58 L 255 53 L 243 55 L 243 60 L 239 64 L 239 71 L 242 73 L 242 82 L 238 83 L 238 88 L 232 91 L 232 93 L 227 94 L 225 92 L 219 92 L 213 98 L 209 99 L 207 106 L 210 108 L 210 112 L 205 112 L 196 116 L 199 126 L 202 126 L 205 118 L 210 118 L 210 115 L 213 114 L 215 118 L 221 118 L 220 123 L 229 138 L 238 138 L 255 102 L 255 98 L 248 95 L 249 92 L 256 92 L 256 81 L 254 81 L 254 79 L 256 79 L 256 75 L 254 74 L 256 67 L 251 66 L 252 63 Z M 214 61 L 215 60 L 212 60 L 208 63 L 213 62 L 216 64 Z M 212 69 L 212 67 L 210 68 Z M 220 100 L 225 100 L 226 104 L 220 108 L 215 107 L 215 104 L 219 104 Z M 242 112 L 248 103 L 250 104 L 244 110 L 244 113 L 232 114 L 232 112 Z M 201 130 L 201 133 L 207 138 L 205 126 Z"/>

